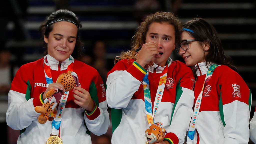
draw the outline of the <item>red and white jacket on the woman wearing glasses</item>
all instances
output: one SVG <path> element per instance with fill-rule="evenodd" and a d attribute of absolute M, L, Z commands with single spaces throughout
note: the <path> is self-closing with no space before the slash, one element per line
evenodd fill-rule
<path fill-rule="evenodd" d="M 195 101 L 208 71 L 199 63 Z M 241 76 L 225 65 L 215 68 L 209 86 L 205 86 L 193 144 L 247 144 L 251 91 Z"/>

